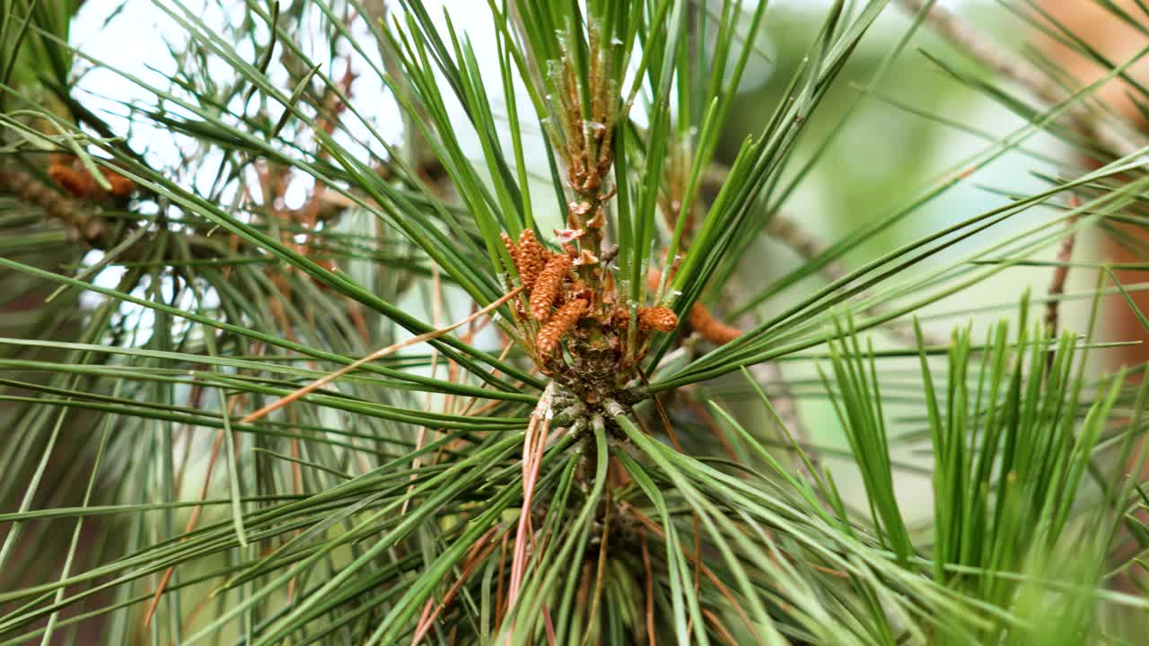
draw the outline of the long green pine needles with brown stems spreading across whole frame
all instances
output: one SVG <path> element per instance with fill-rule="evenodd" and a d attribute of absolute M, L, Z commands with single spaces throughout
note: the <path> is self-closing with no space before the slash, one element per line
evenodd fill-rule
<path fill-rule="evenodd" d="M 219 28 L 155 2 L 184 34 L 165 78 L 70 45 L 67 3 L 0 1 L 0 644 L 1143 632 L 1149 382 L 1087 360 L 1124 347 L 1097 340 L 1103 297 L 1144 322 L 1144 285 L 1041 255 L 1147 221 L 1143 162 L 1066 125 L 1127 125 L 1097 84 L 1035 106 L 908 61 L 919 14 L 856 101 L 934 66 L 1021 125 L 763 279 L 747 268 L 854 123 L 832 103 L 889 2 L 804 14 L 804 55 L 745 131 L 765 2 L 489 0 L 465 25 L 418 0 L 223 5 Z M 74 66 L 139 97 L 95 109 Z M 841 121 L 811 126 L 827 106 Z M 1023 151 L 1042 190 L 795 289 L 1041 132 L 1092 166 Z M 572 264 L 541 306 L 531 236 L 540 266 Z M 981 344 L 902 343 L 1019 267 L 1098 283 L 1040 323 L 1003 295 Z M 1056 336 L 1081 299 L 1089 329 Z M 827 400 L 834 472 L 795 407 Z M 908 452 L 928 455 L 924 523 Z"/>

